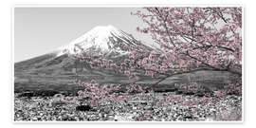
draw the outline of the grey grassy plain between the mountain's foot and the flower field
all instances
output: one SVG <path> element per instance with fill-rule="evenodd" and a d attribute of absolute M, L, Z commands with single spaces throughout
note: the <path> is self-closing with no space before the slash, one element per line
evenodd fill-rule
<path fill-rule="evenodd" d="M 163 82 L 159 82 L 153 89 L 155 91 L 174 90 L 175 83 L 190 83 L 198 82 L 201 85 L 208 87 L 223 88 L 229 77 L 228 72 L 219 71 L 198 71 L 188 74 L 176 75 L 174 77 L 167 78 Z M 190 76 L 190 80 L 188 80 Z M 55 91 L 59 93 L 76 93 L 81 90 L 82 87 L 74 84 L 74 81 L 79 78 L 82 82 L 90 82 L 95 80 L 101 84 L 116 83 L 121 85 L 127 85 L 135 82 L 142 86 L 152 87 L 152 84 L 158 81 L 151 77 L 141 76 L 139 80 L 129 81 L 126 76 L 123 75 L 103 75 L 102 73 L 87 73 L 79 76 L 76 75 L 23 75 L 15 76 L 14 91 L 20 92 L 38 92 L 38 91 Z M 137 82 L 136 82 L 137 81 Z"/>

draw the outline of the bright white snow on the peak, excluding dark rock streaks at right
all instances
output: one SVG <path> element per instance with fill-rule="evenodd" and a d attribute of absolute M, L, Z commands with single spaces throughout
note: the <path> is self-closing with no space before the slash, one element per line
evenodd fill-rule
<path fill-rule="evenodd" d="M 122 51 L 119 47 L 115 49 L 111 48 L 114 46 L 114 44 L 112 44 L 109 41 L 109 37 L 113 37 L 113 35 L 115 35 L 116 37 L 123 37 L 127 39 L 129 42 L 123 40 L 122 38 L 119 38 L 120 40 L 122 40 L 122 43 L 126 45 L 134 44 L 132 42 L 133 38 L 127 35 L 126 33 L 124 33 L 123 31 L 119 30 L 117 27 L 113 27 L 110 25 L 106 27 L 94 27 L 90 31 L 83 34 L 81 37 L 73 40 L 67 46 L 60 47 L 58 49 L 59 52 L 57 56 L 61 56 L 65 54 L 63 52 L 64 49 L 66 49 L 69 54 L 77 54 L 77 53 L 80 53 L 82 49 L 87 49 L 92 46 L 94 48 L 101 49 L 102 53 L 109 53 L 112 50 L 115 50 L 120 54 L 126 54 L 127 51 Z M 113 39 L 114 41 L 117 41 L 116 38 L 113 37 Z M 78 48 L 78 46 L 82 47 L 82 49 Z"/>

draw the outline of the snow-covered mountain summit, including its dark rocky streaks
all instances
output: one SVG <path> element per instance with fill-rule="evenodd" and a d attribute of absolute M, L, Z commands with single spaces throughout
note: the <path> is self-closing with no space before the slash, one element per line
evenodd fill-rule
<path fill-rule="evenodd" d="M 101 55 L 123 55 L 129 53 L 128 46 L 141 45 L 132 35 L 117 27 L 94 27 L 67 46 L 58 49 L 57 56 L 79 54 L 82 50 L 94 50 Z M 63 52 L 65 50 L 65 52 Z"/>

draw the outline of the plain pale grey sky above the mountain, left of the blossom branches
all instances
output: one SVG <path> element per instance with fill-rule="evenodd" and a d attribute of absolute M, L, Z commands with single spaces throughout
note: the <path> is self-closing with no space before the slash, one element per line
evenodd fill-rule
<path fill-rule="evenodd" d="M 15 8 L 14 62 L 44 55 L 69 44 L 93 27 L 112 25 L 152 43 L 138 33 L 144 24 L 131 11 L 138 8 Z"/>

